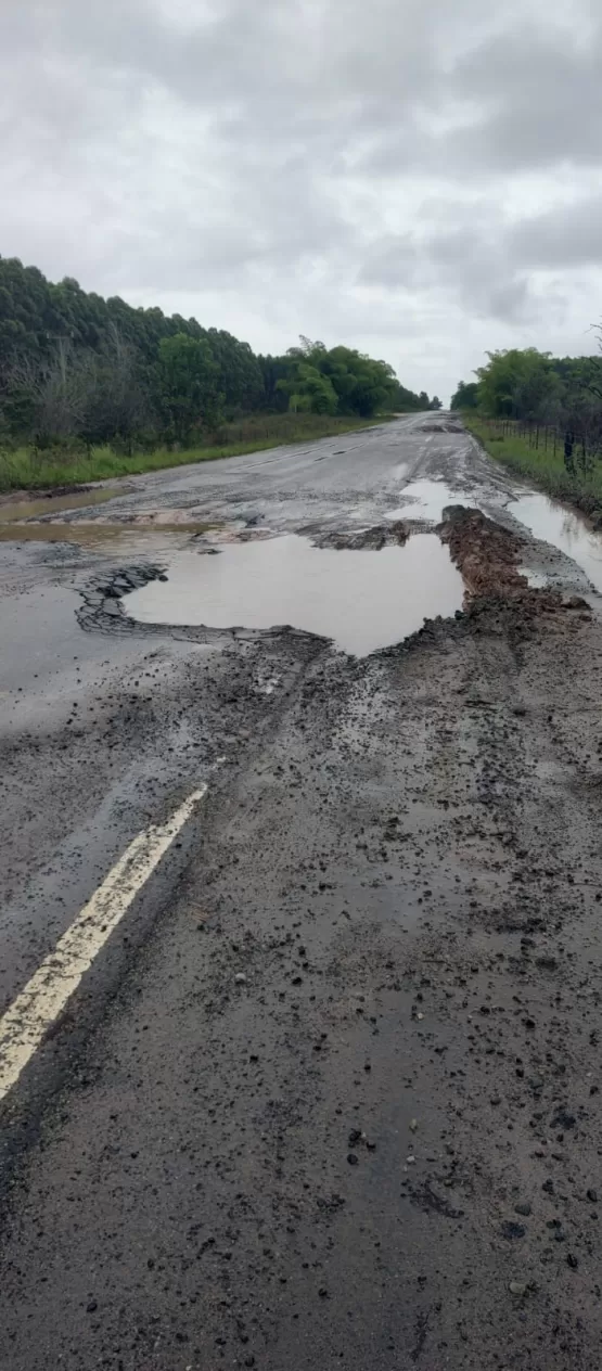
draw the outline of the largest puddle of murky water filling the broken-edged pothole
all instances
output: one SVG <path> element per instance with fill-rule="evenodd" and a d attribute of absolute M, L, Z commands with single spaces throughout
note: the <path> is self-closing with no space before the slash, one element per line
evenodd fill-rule
<path fill-rule="evenodd" d="M 145 624 L 289 624 L 363 657 L 407 638 L 425 618 L 454 614 L 462 598 L 462 577 L 435 533 L 380 553 L 317 548 L 292 533 L 230 544 L 219 557 L 180 553 L 167 581 L 128 595 L 125 609 Z"/>

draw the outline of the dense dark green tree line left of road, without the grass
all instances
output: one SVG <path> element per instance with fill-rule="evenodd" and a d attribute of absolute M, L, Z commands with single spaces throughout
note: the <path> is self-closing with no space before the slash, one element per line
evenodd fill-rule
<path fill-rule="evenodd" d="M 0 441 L 182 447 L 254 411 L 437 409 L 352 348 L 258 356 L 224 329 L 58 285 L 0 258 Z"/>

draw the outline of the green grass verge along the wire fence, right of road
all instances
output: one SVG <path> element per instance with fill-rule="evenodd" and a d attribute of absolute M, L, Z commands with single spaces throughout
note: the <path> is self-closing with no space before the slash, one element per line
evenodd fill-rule
<path fill-rule="evenodd" d="M 531 447 L 528 440 L 518 435 L 502 436 L 502 429 L 495 421 L 483 420 L 473 411 L 465 411 L 462 418 L 490 457 L 503 462 L 517 476 L 533 481 L 557 499 L 576 505 L 586 514 L 602 513 L 602 465 L 595 463 L 588 472 L 577 469 L 575 476 L 570 476 L 559 443 L 554 454 L 550 444 L 546 451 L 543 446 Z"/>

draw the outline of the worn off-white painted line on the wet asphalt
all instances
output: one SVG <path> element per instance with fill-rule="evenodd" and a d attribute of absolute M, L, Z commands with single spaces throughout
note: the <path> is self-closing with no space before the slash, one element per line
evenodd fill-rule
<path fill-rule="evenodd" d="M 151 824 L 126 847 L 56 947 L 0 1019 L 0 1101 L 18 1082 L 139 890 L 159 865 L 195 805 L 200 786 L 165 824 Z"/>

